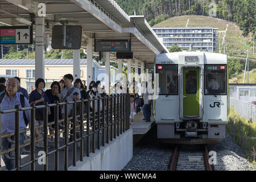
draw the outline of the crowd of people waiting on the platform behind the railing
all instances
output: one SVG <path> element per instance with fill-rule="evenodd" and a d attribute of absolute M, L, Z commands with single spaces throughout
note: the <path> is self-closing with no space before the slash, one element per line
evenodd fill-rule
<path fill-rule="evenodd" d="M 73 83 L 73 84 L 72 84 Z M 46 102 L 48 104 L 55 104 L 56 102 L 64 102 L 64 101 L 74 101 L 74 100 L 87 100 L 98 97 L 106 96 L 105 87 L 101 85 L 100 81 L 91 81 L 88 85 L 88 90 L 86 88 L 85 80 L 81 80 L 77 78 L 75 81 L 71 74 L 64 75 L 63 79 L 60 81 L 53 81 L 51 84 L 51 89 L 44 91 L 46 87 L 46 82 L 43 78 L 38 78 L 35 81 L 35 90 L 33 90 L 29 95 L 26 89 L 20 86 L 20 78 L 14 77 L 9 78 L 7 81 L 5 78 L 0 78 L 0 107 L 1 110 L 14 109 L 15 105 L 19 105 L 20 107 L 29 107 L 31 105 L 40 106 L 44 105 Z M 139 87 L 137 86 L 137 82 L 133 82 L 132 88 L 129 88 L 127 82 L 117 82 L 113 88 L 110 88 L 111 94 L 121 94 L 121 93 L 134 93 L 131 94 L 130 106 L 130 123 L 133 124 L 134 115 L 141 111 L 141 107 L 144 114 L 144 119 L 146 122 L 150 121 L 151 115 L 151 100 L 148 99 L 147 92 L 147 84 L 146 82 L 142 82 L 141 93 L 142 96 L 139 96 L 138 91 Z M 106 106 L 106 105 L 105 105 Z M 92 111 L 93 104 L 90 102 L 90 108 L 86 108 L 86 104 L 84 105 L 84 113 L 86 113 L 87 109 Z M 102 102 L 100 102 L 100 109 L 102 110 Z M 95 110 L 98 109 L 98 102 L 95 102 Z M 59 107 L 59 119 L 64 118 L 64 106 Z M 100 112 L 102 114 L 102 111 Z M 48 122 L 55 121 L 55 109 L 54 107 L 48 107 Z M 73 114 L 73 104 L 68 104 L 68 117 L 71 117 Z M 79 114 L 79 110 L 77 110 L 77 114 Z M 1 134 L 12 133 L 14 132 L 14 113 L 6 113 L 1 114 Z M 30 123 L 31 113 L 30 110 L 20 111 L 20 130 L 26 129 L 28 124 Z M 77 119 L 77 125 L 79 125 L 80 119 Z M 43 125 L 44 123 L 44 112 L 43 109 L 36 109 L 35 113 L 35 125 Z M 71 126 L 72 127 L 72 126 Z M 59 123 L 59 129 L 63 129 L 63 123 Z M 53 146 L 54 139 L 53 133 L 55 130 L 55 125 L 49 125 L 49 134 L 51 137 L 49 138 L 50 146 Z M 77 130 L 79 130 L 77 128 Z M 77 137 L 79 137 L 79 132 L 76 132 Z M 72 141 L 73 134 L 71 130 L 71 137 L 69 137 L 69 141 Z M 43 137 L 43 127 L 39 127 L 35 132 L 35 137 L 42 138 Z M 24 139 L 26 138 L 26 134 L 20 133 L 20 143 L 24 143 Z M 14 136 L 5 137 L 1 139 L 2 151 L 8 148 L 13 147 L 12 141 L 14 141 Z M 78 147 L 80 143 L 78 143 Z M 43 140 L 36 143 L 36 147 L 43 147 Z M 20 154 L 27 152 L 24 150 L 20 150 Z M 14 168 L 14 151 L 8 152 L 5 155 L 2 155 L 2 159 L 6 164 L 7 169 Z"/>

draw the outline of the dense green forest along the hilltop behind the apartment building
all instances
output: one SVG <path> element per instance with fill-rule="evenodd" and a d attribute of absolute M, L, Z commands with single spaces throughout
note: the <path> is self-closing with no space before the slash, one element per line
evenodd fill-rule
<path fill-rule="evenodd" d="M 144 15 L 150 26 L 172 16 L 180 15 L 204 15 L 209 16 L 209 10 L 213 7 L 210 3 L 215 3 L 217 18 L 236 22 L 243 35 L 255 32 L 255 0 L 115 0 L 118 5 L 133 15 L 134 10 L 137 15 Z M 167 18 L 166 18 L 167 16 Z"/>

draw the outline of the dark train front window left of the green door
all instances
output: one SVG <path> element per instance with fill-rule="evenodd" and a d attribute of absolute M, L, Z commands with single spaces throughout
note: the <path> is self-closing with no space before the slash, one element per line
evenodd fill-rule
<path fill-rule="evenodd" d="M 159 74 L 159 95 L 177 95 L 177 72 L 178 67 L 175 64 L 157 64 L 156 73 Z"/>

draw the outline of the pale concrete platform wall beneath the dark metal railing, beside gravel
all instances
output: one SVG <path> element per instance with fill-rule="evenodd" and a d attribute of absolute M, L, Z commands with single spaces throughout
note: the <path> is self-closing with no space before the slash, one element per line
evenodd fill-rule
<path fill-rule="evenodd" d="M 120 171 L 133 157 L 133 129 L 113 139 L 83 162 L 68 168 L 69 171 Z"/>

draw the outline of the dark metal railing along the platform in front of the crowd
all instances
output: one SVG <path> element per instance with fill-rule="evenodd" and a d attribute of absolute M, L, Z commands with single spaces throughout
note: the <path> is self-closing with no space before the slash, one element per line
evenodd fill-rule
<path fill-rule="evenodd" d="M 90 103 L 92 102 L 92 108 Z M 96 109 L 97 102 L 97 109 Z M 102 104 L 102 109 L 100 108 Z M 68 105 L 73 104 L 72 115 L 68 115 Z M 59 107 L 64 106 L 64 118 L 59 119 Z M 84 106 L 86 110 L 84 109 Z M 54 107 L 54 120 L 48 122 L 48 109 Z M 20 126 L 20 111 L 30 110 L 31 121 L 35 121 L 36 109 L 43 109 L 43 125 L 35 126 L 35 122 L 30 123 L 30 127 L 24 130 L 19 130 Z M 85 113 L 84 113 L 85 111 Z M 22 107 L 15 106 L 15 109 L 1 110 L 0 108 L 0 124 L 1 114 L 14 113 L 15 114 L 15 131 L 14 133 L 1 134 L 0 138 L 14 136 L 14 147 L 8 150 L 1 151 L 0 155 L 8 154 L 10 151 L 15 152 L 15 167 L 12 171 L 18 171 L 24 167 L 30 166 L 31 171 L 35 171 L 35 164 L 40 159 L 40 156 L 35 156 L 35 143 L 43 140 L 43 151 L 45 152 L 45 164 L 44 171 L 49 168 L 48 158 L 50 155 L 55 154 L 55 170 L 59 170 L 59 151 L 64 149 L 64 170 L 68 170 L 68 147 L 73 146 L 73 166 L 76 166 L 77 162 L 77 144 L 80 142 L 80 161 L 83 161 L 85 156 L 89 157 L 91 153 L 96 152 L 96 148 L 100 150 L 101 146 L 105 146 L 105 143 L 109 143 L 113 138 L 117 138 L 119 134 L 125 133 L 130 129 L 129 117 L 130 117 L 130 94 L 113 94 L 106 97 L 98 97 L 89 100 L 80 100 L 72 102 L 55 102 L 55 104 L 47 104 L 42 106 Z M 78 113 L 78 114 L 77 114 Z M 55 124 L 54 134 L 48 134 L 48 126 Z M 61 126 L 61 128 L 59 128 Z M 35 129 L 43 130 L 43 137 L 35 138 Z M 0 125 L 1 130 L 1 125 Z M 29 133 L 30 142 L 24 144 L 20 143 L 20 133 Z M 64 144 L 60 146 L 60 134 L 63 134 Z M 77 137 L 77 134 L 79 137 Z M 48 139 L 55 138 L 54 149 L 48 151 Z M 72 139 L 70 140 L 72 136 Z M 96 146 L 97 137 L 97 146 Z M 84 155 L 84 142 L 86 143 L 86 155 Z M 1 140 L 0 140 L 1 146 Z M 20 164 L 20 148 L 30 146 L 30 159 L 25 163 Z M 1 163 L 0 163 L 1 171 Z"/>

